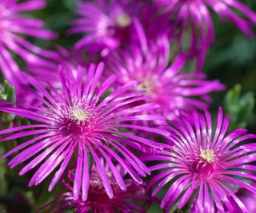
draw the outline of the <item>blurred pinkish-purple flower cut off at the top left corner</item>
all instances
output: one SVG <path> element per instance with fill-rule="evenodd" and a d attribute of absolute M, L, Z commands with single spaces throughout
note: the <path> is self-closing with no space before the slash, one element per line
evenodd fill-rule
<path fill-rule="evenodd" d="M 0 71 L 6 80 L 15 87 L 18 101 L 20 96 L 24 96 L 21 94 L 24 78 L 10 52 L 16 53 L 26 64 L 47 65 L 48 67 L 51 66 L 51 63 L 43 57 L 56 57 L 54 52 L 40 49 L 24 38 L 24 36 L 30 36 L 51 39 L 56 36 L 53 32 L 43 29 L 41 20 L 26 18 L 22 14 L 29 10 L 42 9 L 44 6 L 43 0 L 20 3 L 0 0 Z"/>

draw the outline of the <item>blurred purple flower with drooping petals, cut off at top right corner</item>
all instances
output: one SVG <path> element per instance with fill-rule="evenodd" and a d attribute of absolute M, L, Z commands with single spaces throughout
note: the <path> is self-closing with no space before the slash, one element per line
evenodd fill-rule
<path fill-rule="evenodd" d="M 206 49 L 214 42 L 214 26 L 209 7 L 220 18 L 234 22 L 244 34 L 250 37 L 253 35 L 250 27 L 256 24 L 254 11 L 239 0 L 157 0 L 155 6 L 163 8 L 165 17 L 166 14 L 170 14 L 170 17 L 174 18 L 171 31 L 180 29 L 178 39 L 181 43 L 185 39 L 186 27 L 190 24 L 190 54 L 191 57 L 194 54 L 198 55 L 199 71 L 202 69 Z M 246 19 L 240 18 L 233 9 L 238 10 Z"/>

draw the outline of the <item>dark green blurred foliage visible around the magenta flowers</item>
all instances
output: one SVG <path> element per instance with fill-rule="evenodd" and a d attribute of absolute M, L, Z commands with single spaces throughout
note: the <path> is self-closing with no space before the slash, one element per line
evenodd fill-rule
<path fill-rule="evenodd" d="M 56 43 L 64 47 L 71 47 L 78 41 L 78 35 L 67 36 L 66 30 L 70 26 L 70 20 L 76 18 L 74 8 L 75 0 L 47 0 L 44 10 L 28 13 L 32 17 L 41 18 L 46 22 L 46 28 L 58 32 L 55 41 L 42 41 L 30 39 L 42 48 L 53 48 Z M 247 0 L 247 6 L 256 11 L 255 1 Z M 1 12 L 0 12 L 1 13 Z M 251 133 L 256 133 L 256 117 L 254 98 L 256 93 L 256 39 L 248 38 L 242 34 L 231 22 L 220 20 L 212 13 L 215 28 L 215 43 L 206 57 L 204 73 L 210 79 L 219 79 L 226 85 L 226 91 L 215 93 L 213 105 L 210 110 L 216 113 L 222 106 L 230 116 L 230 128 L 248 128 Z M 256 30 L 255 30 L 256 33 Z M 16 60 L 19 60 L 16 57 Z M 3 79 L 0 77 L 0 81 Z M 26 120 L 20 120 L 26 122 Z M 0 156 L 6 149 L 12 147 L 9 144 L 0 144 Z M 54 195 L 62 192 L 59 184 L 50 193 L 47 191 L 48 182 L 40 184 L 33 189 L 27 187 L 30 174 L 18 176 L 20 168 L 10 170 L 6 167 L 6 160 L 0 160 L 0 213 L 30 213 L 42 207 Z M 72 212 L 72 211 L 66 211 Z M 150 207 L 149 212 L 160 212 L 158 205 Z"/>

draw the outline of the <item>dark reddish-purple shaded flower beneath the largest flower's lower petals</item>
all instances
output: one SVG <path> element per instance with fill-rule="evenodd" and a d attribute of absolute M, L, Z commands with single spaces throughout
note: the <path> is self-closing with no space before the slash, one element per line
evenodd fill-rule
<path fill-rule="evenodd" d="M 106 168 L 107 169 L 107 168 Z M 110 170 L 110 168 L 108 168 Z M 120 171 L 122 173 L 122 171 Z M 68 172 L 70 181 L 74 181 L 74 173 Z M 52 200 L 46 206 L 40 208 L 38 212 L 62 212 L 65 209 L 72 208 L 77 213 L 87 212 L 122 212 L 132 213 L 146 212 L 146 203 L 152 203 L 157 199 L 150 198 L 146 195 L 145 183 L 138 184 L 134 179 L 124 179 L 126 191 L 121 191 L 114 176 L 110 175 L 110 184 L 113 188 L 113 198 L 110 199 L 106 194 L 105 188 L 102 184 L 97 171 L 92 169 L 90 172 L 90 187 L 89 194 L 86 201 L 81 198 L 74 200 L 71 191 L 73 187 L 69 183 L 62 181 L 64 186 L 69 192 L 59 195 L 56 199 Z M 144 207 L 143 207 L 144 206 Z"/>

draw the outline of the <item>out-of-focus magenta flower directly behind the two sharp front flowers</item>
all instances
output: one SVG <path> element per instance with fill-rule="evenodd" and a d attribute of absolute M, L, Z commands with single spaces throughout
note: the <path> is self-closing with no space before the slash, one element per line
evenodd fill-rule
<path fill-rule="evenodd" d="M 134 43 L 126 50 L 110 53 L 106 65 L 118 76 L 119 85 L 139 81 L 137 91 L 146 90 L 149 102 L 160 105 L 154 113 L 172 120 L 178 110 L 190 112 L 193 108 L 206 108 L 209 93 L 223 89 L 219 81 L 206 81 L 202 73 L 184 73 L 185 54 L 180 53 L 171 65 L 170 43 L 167 36 L 147 41 L 139 22 L 134 21 L 140 44 Z"/>

